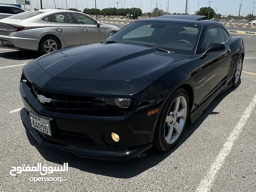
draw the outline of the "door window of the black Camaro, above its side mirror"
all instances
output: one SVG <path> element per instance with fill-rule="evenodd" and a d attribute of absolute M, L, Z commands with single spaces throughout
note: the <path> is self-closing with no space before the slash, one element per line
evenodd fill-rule
<path fill-rule="evenodd" d="M 225 38 L 221 27 L 212 27 L 208 29 L 204 39 L 204 50 L 206 50 L 212 43 L 225 43 Z"/>

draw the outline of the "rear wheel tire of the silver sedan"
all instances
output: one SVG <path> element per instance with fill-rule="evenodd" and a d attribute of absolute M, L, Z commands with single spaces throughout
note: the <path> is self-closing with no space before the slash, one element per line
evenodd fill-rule
<path fill-rule="evenodd" d="M 47 46 L 48 43 L 50 43 L 49 48 L 44 48 L 44 44 L 46 44 Z M 55 37 L 48 36 L 41 39 L 39 44 L 39 52 L 44 55 L 44 54 L 50 53 L 50 52 L 47 52 L 47 50 L 49 49 L 50 49 L 50 52 L 60 49 L 60 43 Z"/>

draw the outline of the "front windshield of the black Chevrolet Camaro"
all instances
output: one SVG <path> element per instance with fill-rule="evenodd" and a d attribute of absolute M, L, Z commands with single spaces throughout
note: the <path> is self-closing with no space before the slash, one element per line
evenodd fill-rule
<path fill-rule="evenodd" d="M 195 25 L 132 22 L 106 41 L 158 46 L 178 54 L 194 54 L 200 30 L 201 27 Z"/>

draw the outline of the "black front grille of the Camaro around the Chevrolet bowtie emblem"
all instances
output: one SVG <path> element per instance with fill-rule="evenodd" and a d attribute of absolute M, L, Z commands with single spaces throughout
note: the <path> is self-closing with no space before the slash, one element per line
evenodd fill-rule
<path fill-rule="evenodd" d="M 28 81 L 26 84 L 31 88 L 35 98 L 42 95 L 51 100 L 51 102 L 45 103 L 39 102 L 39 100 L 38 102 L 44 109 L 52 112 L 87 116 L 124 116 L 131 110 L 131 108 L 122 109 L 118 106 L 109 106 L 106 104 L 105 98 L 44 92 L 35 84 Z"/>

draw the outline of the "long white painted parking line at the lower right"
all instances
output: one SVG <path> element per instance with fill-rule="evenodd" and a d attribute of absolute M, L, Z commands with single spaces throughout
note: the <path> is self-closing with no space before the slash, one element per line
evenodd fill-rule
<path fill-rule="evenodd" d="M 235 140 L 238 138 L 239 134 L 242 132 L 242 129 L 250 117 L 252 110 L 256 105 L 256 95 L 254 96 L 252 102 L 247 106 L 244 114 L 242 115 L 239 122 L 236 124 L 236 127 L 233 129 L 232 133 L 229 135 L 228 140 L 223 145 L 223 148 L 220 150 L 218 156 L 216 157 L 214 163 L 207 172 L 205 178 L 200 182 L 199 186 L 196 188 L 196 192 L 208 192 L 216 178 L 216 174 L 224 164 L 224 161 L 228 154 L 230 153 L 232 146 L 234 145 Z"/>

